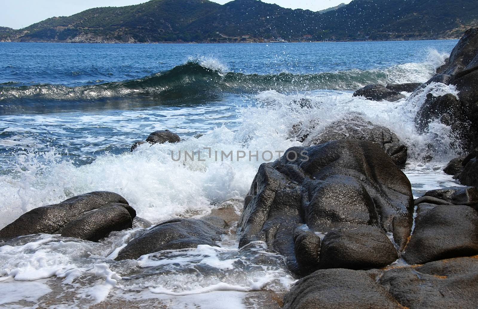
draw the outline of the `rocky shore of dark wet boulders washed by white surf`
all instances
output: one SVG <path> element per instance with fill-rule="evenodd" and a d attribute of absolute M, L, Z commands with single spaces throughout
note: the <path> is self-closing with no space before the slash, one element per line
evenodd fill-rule
<path fill-rule="evenodd" d="M 441 94 L 436 85 L 453 85 L 458 93 Z M 242 209 L 225 202 L 211 214 L 153 225 L 137 217 L 134 205 L 119 194 L 90 192 L 22 214 L 0 231 L 0 245 L 31 234 L 98 242 L 134 227 L 140 232 L 109 256 L 128 263 L 147 254 L 217 247 L 229 237 L 239 241 L 239 251 L 265 244 L 297 279 L 283 298 L 268 296 L 275 299 L 268 300 L 270 308 L 476 308 L 477 85 L 475 28 L 426 83 L 368 85 L 354 93 L 383 104 L 403 99 L 404 93 L 426 97 L 416 128 L 427 132 L 432 123 L 450 128 L 459 140 L 450 147 L 461 156 L 445 172 L 463 186 L 413 196 L 401 170 L 411 146 L 391 129 L 353 113 L 320 132 L 313 124 L 293 128 L 291 138 L 303 146 L 259 167 Z M 180 142 L 169 130 L 155 131 L 131 151 Z M 423 156 L 432 157 L 433 151 Z"/>

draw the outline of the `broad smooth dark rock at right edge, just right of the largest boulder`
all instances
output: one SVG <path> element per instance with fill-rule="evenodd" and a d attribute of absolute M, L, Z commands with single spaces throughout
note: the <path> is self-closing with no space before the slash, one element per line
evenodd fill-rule
<path fill-rule="evenodd" d="M 403 257 L 410 264 L 478 254 L 478 212 L 465 205 L 438 205 L 419 213 Z"/>

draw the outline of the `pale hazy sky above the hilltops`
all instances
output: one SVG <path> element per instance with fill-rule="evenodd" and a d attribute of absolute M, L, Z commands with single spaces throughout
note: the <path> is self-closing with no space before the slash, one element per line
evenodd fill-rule
<path fill-rule="evenodd" d="M 230 0 L 212 0 L 224 4 Z M 319 11 L 350 0 L 262 0 L 285 8 Z M 20 29 L 53 16 L 68 16 L 101 6 L 124 6 L 145 0 L 0 0 L 0 26 Z"/>

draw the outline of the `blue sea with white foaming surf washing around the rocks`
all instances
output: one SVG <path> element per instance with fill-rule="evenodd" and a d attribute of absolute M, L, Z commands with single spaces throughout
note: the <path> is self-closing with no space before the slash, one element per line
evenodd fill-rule
<path fill-rule="evenodd" d="M 432 122 L 421 134 L 414 124 L 426 92 L 456 95 L 453 85 L 397 102 L 352 96 L 368 84 L 426 82 L 456 43 L 0 43 L 0 228 L 92 191 L 121 194 L 153 224 L 224 203 L 240 212 L 261 163 L 302 144 L 294 129 L 318 132 L 351 112 L 407 144 L 416 197 L 457 185 L 442 171 L 460 151 L 450 128 Z M 164 129 L 182 141 L 130 151 Z M 206 151 L 233 156 L 198 160 Z M 1 308 L 274 308 L 265 296 L 281 298 L 297 279 L 282 256 L 260 242 L 239 249 L 233 233 L 217 247 L 114 261 L 140 231 L 0 244 Z"/>

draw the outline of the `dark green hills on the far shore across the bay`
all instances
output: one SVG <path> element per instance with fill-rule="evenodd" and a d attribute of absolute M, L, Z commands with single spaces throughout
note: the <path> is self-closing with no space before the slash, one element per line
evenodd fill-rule
<path fill-rule="evenodd" d="M 476 0 L 354 0 L 326 11 L 259 0 L 152 0 L 52 17 L 1 41 L 69 43 L 261 42 L 457 38 L 478 25 Z M 308 35 L 312 36 L 311 38 Z"/>

